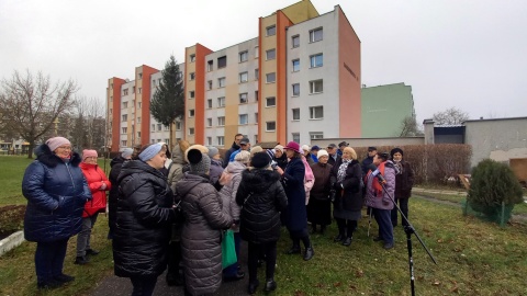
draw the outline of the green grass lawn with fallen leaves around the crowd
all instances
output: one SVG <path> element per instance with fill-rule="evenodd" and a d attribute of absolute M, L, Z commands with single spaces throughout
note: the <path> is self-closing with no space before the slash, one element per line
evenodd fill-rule
<path fill-rule="evenodd" d="M 0 158 L 2 164 L 3 160 Z M 27 162 L 20 162 L 25 169 Z M 23 169 L 19 172 L 22 174 Z M 0 179 L 1 186 L 3 182 Z M 3 200 L 4 192 L 0 191 L 0 201 Z M 527 226 L 512 224 L 501 228 L 462 216 L 461 206 L 422 198 L 411 198 L 410 219 L 438 262 L 431 262 L 413 236 L 416 295 L 527 295 Z M 315 257 L 309 262 L 300 255 L 283 254 L 291 244 L 283 230 L 278 243 L 274 295 L 411 295 L 406 235 L 397 227 L 395 248 L 385 251 L 371 239 L 377 229 L 373 221 L 370 238 L 367 237 L 368 218 L 360 220 L 354 242 L 343 247 L 333 242 L 337 232 L 334 223 L 325 236 L 312 236 Z M 72 264 L 76 240 L 69 241 L 65 272 L 77 280 L 51 292 L 36 291 L 35 243 L 24 242 L 0 259 L 0 295 L 89 295 L 98 282 L 113 272 L 106 231 L 108 220 L 100 215 L 92 246 L 101 253 L 86 266 Z M 264 283 L 261 269 L 259 277 Z M 264 295 L 261 289 L 258 293 Z"/>

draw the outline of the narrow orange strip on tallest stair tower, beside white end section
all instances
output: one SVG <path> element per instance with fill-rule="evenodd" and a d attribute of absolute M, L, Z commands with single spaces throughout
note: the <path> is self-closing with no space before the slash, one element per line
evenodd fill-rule
<path fill-rule="evenodd" d="M 277 141 L 285 144 L 287 140 L 287 31 L 293 23 L 282 11 L 277 11 Z M 261 105 L 261 104 L 260 104 Z"/>

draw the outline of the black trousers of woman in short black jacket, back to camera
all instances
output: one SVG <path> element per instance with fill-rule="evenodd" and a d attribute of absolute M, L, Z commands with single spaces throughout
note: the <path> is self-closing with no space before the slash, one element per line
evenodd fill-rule
<path fill-rule="evenodd" d="M 266 254 L 266 278 L 274 277 L 274 267 L 277 264 L 277 242 L 269 241 L 262 243 L 248 243 L 248 267 L 249 283 L 256 282 L 258 278 L 258 258 L 260 251 Z"/>

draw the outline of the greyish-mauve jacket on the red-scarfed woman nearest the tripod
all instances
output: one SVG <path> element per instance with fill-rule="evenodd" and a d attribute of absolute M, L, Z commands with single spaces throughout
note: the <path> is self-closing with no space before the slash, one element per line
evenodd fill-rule
<path fill-rule="evenodd" d="M 393 202 L 390 196 L 393 197 L 395 193 L 395 169 L 391 160 L 385 161 L 383 177 L 386 180 L 386 184 L 384 184 L 386 190 L 377 192 L 373 182 L 379 182 L 379 180 L 371 171 L 368 172 L 366 178 L 366 205 L 379 209 L 392 209 Z"/>

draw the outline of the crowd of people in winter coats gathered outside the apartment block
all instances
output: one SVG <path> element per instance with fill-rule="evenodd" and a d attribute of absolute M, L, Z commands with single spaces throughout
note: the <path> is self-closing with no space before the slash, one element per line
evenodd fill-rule
<path fill-rule="evenodd" d="M 359 161 L 345 141 L 325 148 L 290 141 L 265 149 L 242 134 L 223 159 L 216 147 L 186 140 L 171 148 L 165 143 L 126 148 L 112 160 L 106 178 L 96 150 L 80 156 L 64 137 L 37 147 L 22 186 L 25 239 L 37 243 L 38 288 L 75 280 L 63 273 L 72 236 L 75 264 L 99 253 L 91 247 L 91 229 L 105 210 L 114 273 L 130 278 L 132 295 L 152 295 L 165 270 L 167 284 L 183 286 L 186 295 L 214 294 L 223 282 L 245 278 L 242 241 L 248 250 L 247 293 L 258 289 L 262 262 L 264 291 L 272 292 L 282 226 L 291 240 L 285 253 L 310 261 L 315 255 L 310 236 L 324 235 L 333 220 L 338 228 L 333 240 L 351 244 L 365 205 L 379 225 L 373 240 L 386 250 L 394 247 L 394 203 L 407 225 L 413 170 L 401 148 L 388 153 L 369 147 Z M 234 232 L 237 260 L 222 265 L 226 230 Z"/>

